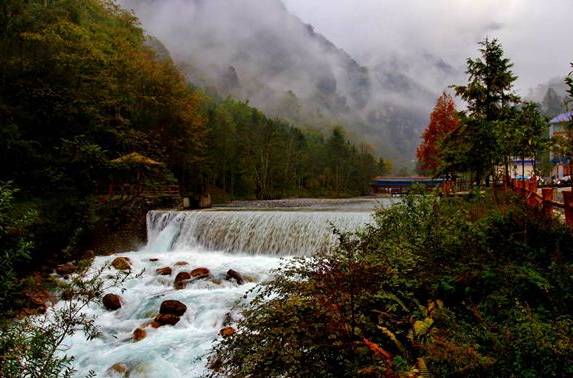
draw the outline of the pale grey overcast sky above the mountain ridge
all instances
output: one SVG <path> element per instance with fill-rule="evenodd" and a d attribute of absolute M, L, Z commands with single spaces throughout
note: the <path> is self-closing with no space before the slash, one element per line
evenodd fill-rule
<path fill-rule="evenodd" d="M 573 60 L 573 0 L 283 0 L 360 63 L 391 52 L 430 53 L 463 69 L 477 42 L 496 37 L 519 92 L 564 76 Z M 423 69 L 419 67 L 419 69 Z"/>

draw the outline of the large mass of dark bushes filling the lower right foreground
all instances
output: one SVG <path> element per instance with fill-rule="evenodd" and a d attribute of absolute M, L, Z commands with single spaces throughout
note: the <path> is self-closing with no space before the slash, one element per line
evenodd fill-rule
<path fill-rule="evenodd" d="M 572 242 L 513 197 L 407 197 L 257 289 L 213 375 L 569 376 Z"/>

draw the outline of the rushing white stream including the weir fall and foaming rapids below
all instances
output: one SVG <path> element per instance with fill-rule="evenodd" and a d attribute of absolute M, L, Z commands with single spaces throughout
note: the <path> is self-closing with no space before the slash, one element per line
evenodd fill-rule
<path fill-rule="evenodd" d="M 208 211 L 152 211 L 147 216 L 148 243 L 135 252 L 97 257 L 92 269 L 118 256 L 131 260 L 141 277 L 121 289 L 110 290 L 123 298 L 122 308 L 107 311 L 93 305 L 102 335 L 86 341 L 78 333 L 66 342 L 75 357 L 77 376 L 90 370 L 97 376 L 114 376 L 109 368 L 125 364 L 130 377 L 197 377 L 205 374 L 207 355 L 220 336 L 225 319 L 237 320 L 233 310 L 246 291 L 268 278 L 281 258 L 310 255 L 336 242 L 332 226 L 354 230 L 371 220 L 379 202 L 366 205 L 305 207 L 296 209 L 215 209 Z M 157 261 L 152 261 L 157 259 Z M 176 265 L 186 262 L 188 265 Z M 171 267 L 172 274 L 158 275 L 157 268 Z M 211 276 L 174 289 L 179 272 L 208 268 Z M 229 269 L 240 272 L 245 284 L 225 280 Z M 161 302 L 175 299 L 187 311 L 174 326 L 146 327 L 147 336 L 132 340 L 134 329 L 157 315 Z M 117 375 L 116 375 L 117 376 Z"/>

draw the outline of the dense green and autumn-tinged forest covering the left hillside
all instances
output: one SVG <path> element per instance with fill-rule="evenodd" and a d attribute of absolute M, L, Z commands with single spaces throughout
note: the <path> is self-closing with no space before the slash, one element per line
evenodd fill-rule
<path fill-rule="evenodd" d="M 364 194 L 384 169 L 341 128 L 305 131 L 191 87 L 113 1 L 7 0 L 0 25 L 0 182 L 11 215 L 34 214 L 18 232 L 36 257 L 67 256 L 128 213 L 137 198 L 102 200 L 118 177 L 269 199 Z M 134 152 L 160 164 L 121 163 Z"/>

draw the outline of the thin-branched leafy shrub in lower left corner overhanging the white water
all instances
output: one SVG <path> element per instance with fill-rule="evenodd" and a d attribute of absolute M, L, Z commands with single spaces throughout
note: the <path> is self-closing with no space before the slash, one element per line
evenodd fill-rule
<path fill-rule="evenodd" d="M 73 357 L 66 354 L 64 340 L 82 332 L 88 339 L 99 335 L 87 306 L 99 303 L 112 286 L 121 285 L 129 273 L 115 276 L 111 283 L 102 279 L 108 266 L 87 275 L 85 270 L 69 281 L 57 281 L 62 298 L 45 315 L 10 320 L 0 324 L 0 374 L 7 378 L 72 377 Z M 94 376 L 93 374 L 90 375 Z"/>

